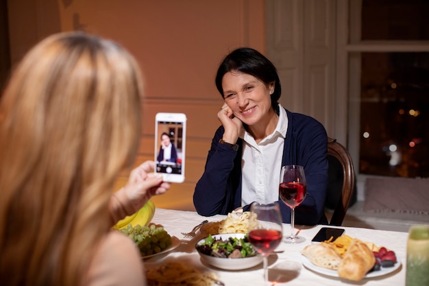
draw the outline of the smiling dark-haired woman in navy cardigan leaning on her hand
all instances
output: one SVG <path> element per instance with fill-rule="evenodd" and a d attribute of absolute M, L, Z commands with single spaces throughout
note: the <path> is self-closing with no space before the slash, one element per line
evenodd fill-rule
<path fill-rule="evenodd" d="M 319 121 L 278 103 L 281 86 L 274 65 L 260 52 L 238 48 L 221 62 L 215 79 L 224 104 L 204 174 L 195 186 L 200 215 L 249 211 L 252 202 L 280 201 L 283 222 L 291 209 L 279 198 L 280 169 L 302 165 L 307 196 L 295 208 L 296 224 L 327 224 L 327 134 Z"/>

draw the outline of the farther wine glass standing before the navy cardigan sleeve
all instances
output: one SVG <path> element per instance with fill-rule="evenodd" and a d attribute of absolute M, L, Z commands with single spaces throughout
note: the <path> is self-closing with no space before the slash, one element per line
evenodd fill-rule
<path fill-rule="evenodd" d="M 291 208 L 291 235 L 284 238 L 286 243 L 301 243 L 306 241 L 304 237 L 294 234 L 295 207 L 299 206 L 307 195 L 306 176 L 304 167 L 299 165 L 287 165 L 280 172 L 280 199 Z"/>

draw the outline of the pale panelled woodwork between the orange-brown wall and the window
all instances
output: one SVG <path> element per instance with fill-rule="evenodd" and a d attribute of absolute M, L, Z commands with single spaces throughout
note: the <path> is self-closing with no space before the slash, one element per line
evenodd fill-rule
<path fill-rule="evenodd" d="M 335 0 L 267 0 L 267 56 L 278 67 L 280 103 L 334 134 Z M 274 19 L 268 15 L 273 14 Z"/>

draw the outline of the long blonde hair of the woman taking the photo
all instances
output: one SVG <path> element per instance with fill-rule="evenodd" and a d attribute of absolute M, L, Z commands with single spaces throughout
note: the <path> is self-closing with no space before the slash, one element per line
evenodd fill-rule
<path fill-rule="evenodd" d="M 84 285 L 115 177 L 140 136 L 138 64 L 109 40 L 49 36 L 0 105 L 0 281 Z"/>

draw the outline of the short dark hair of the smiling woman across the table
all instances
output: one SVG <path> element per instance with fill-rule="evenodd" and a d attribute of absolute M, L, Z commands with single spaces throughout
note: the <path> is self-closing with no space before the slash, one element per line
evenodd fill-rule
<path fill-rule="evenodd" d="M 265 56 L 256 49 L 249 47 L 241 47 L 232 51 L 228 56 L 223 59 L 216 74 L 216 87 L 219 93 L 223 95 L 222 79 L 225 73 L 230 71 L 240 71 L 253 75 L 258 80 L 269 84 L 274 82 L 274 92 L 271 95 L 271 106 L 277 108 L 278 99 L 282 93 L 282 86 L 280 86 L 280 79 L 278 78 L 277 69 L 274 64 L 270 62 Z"/>

